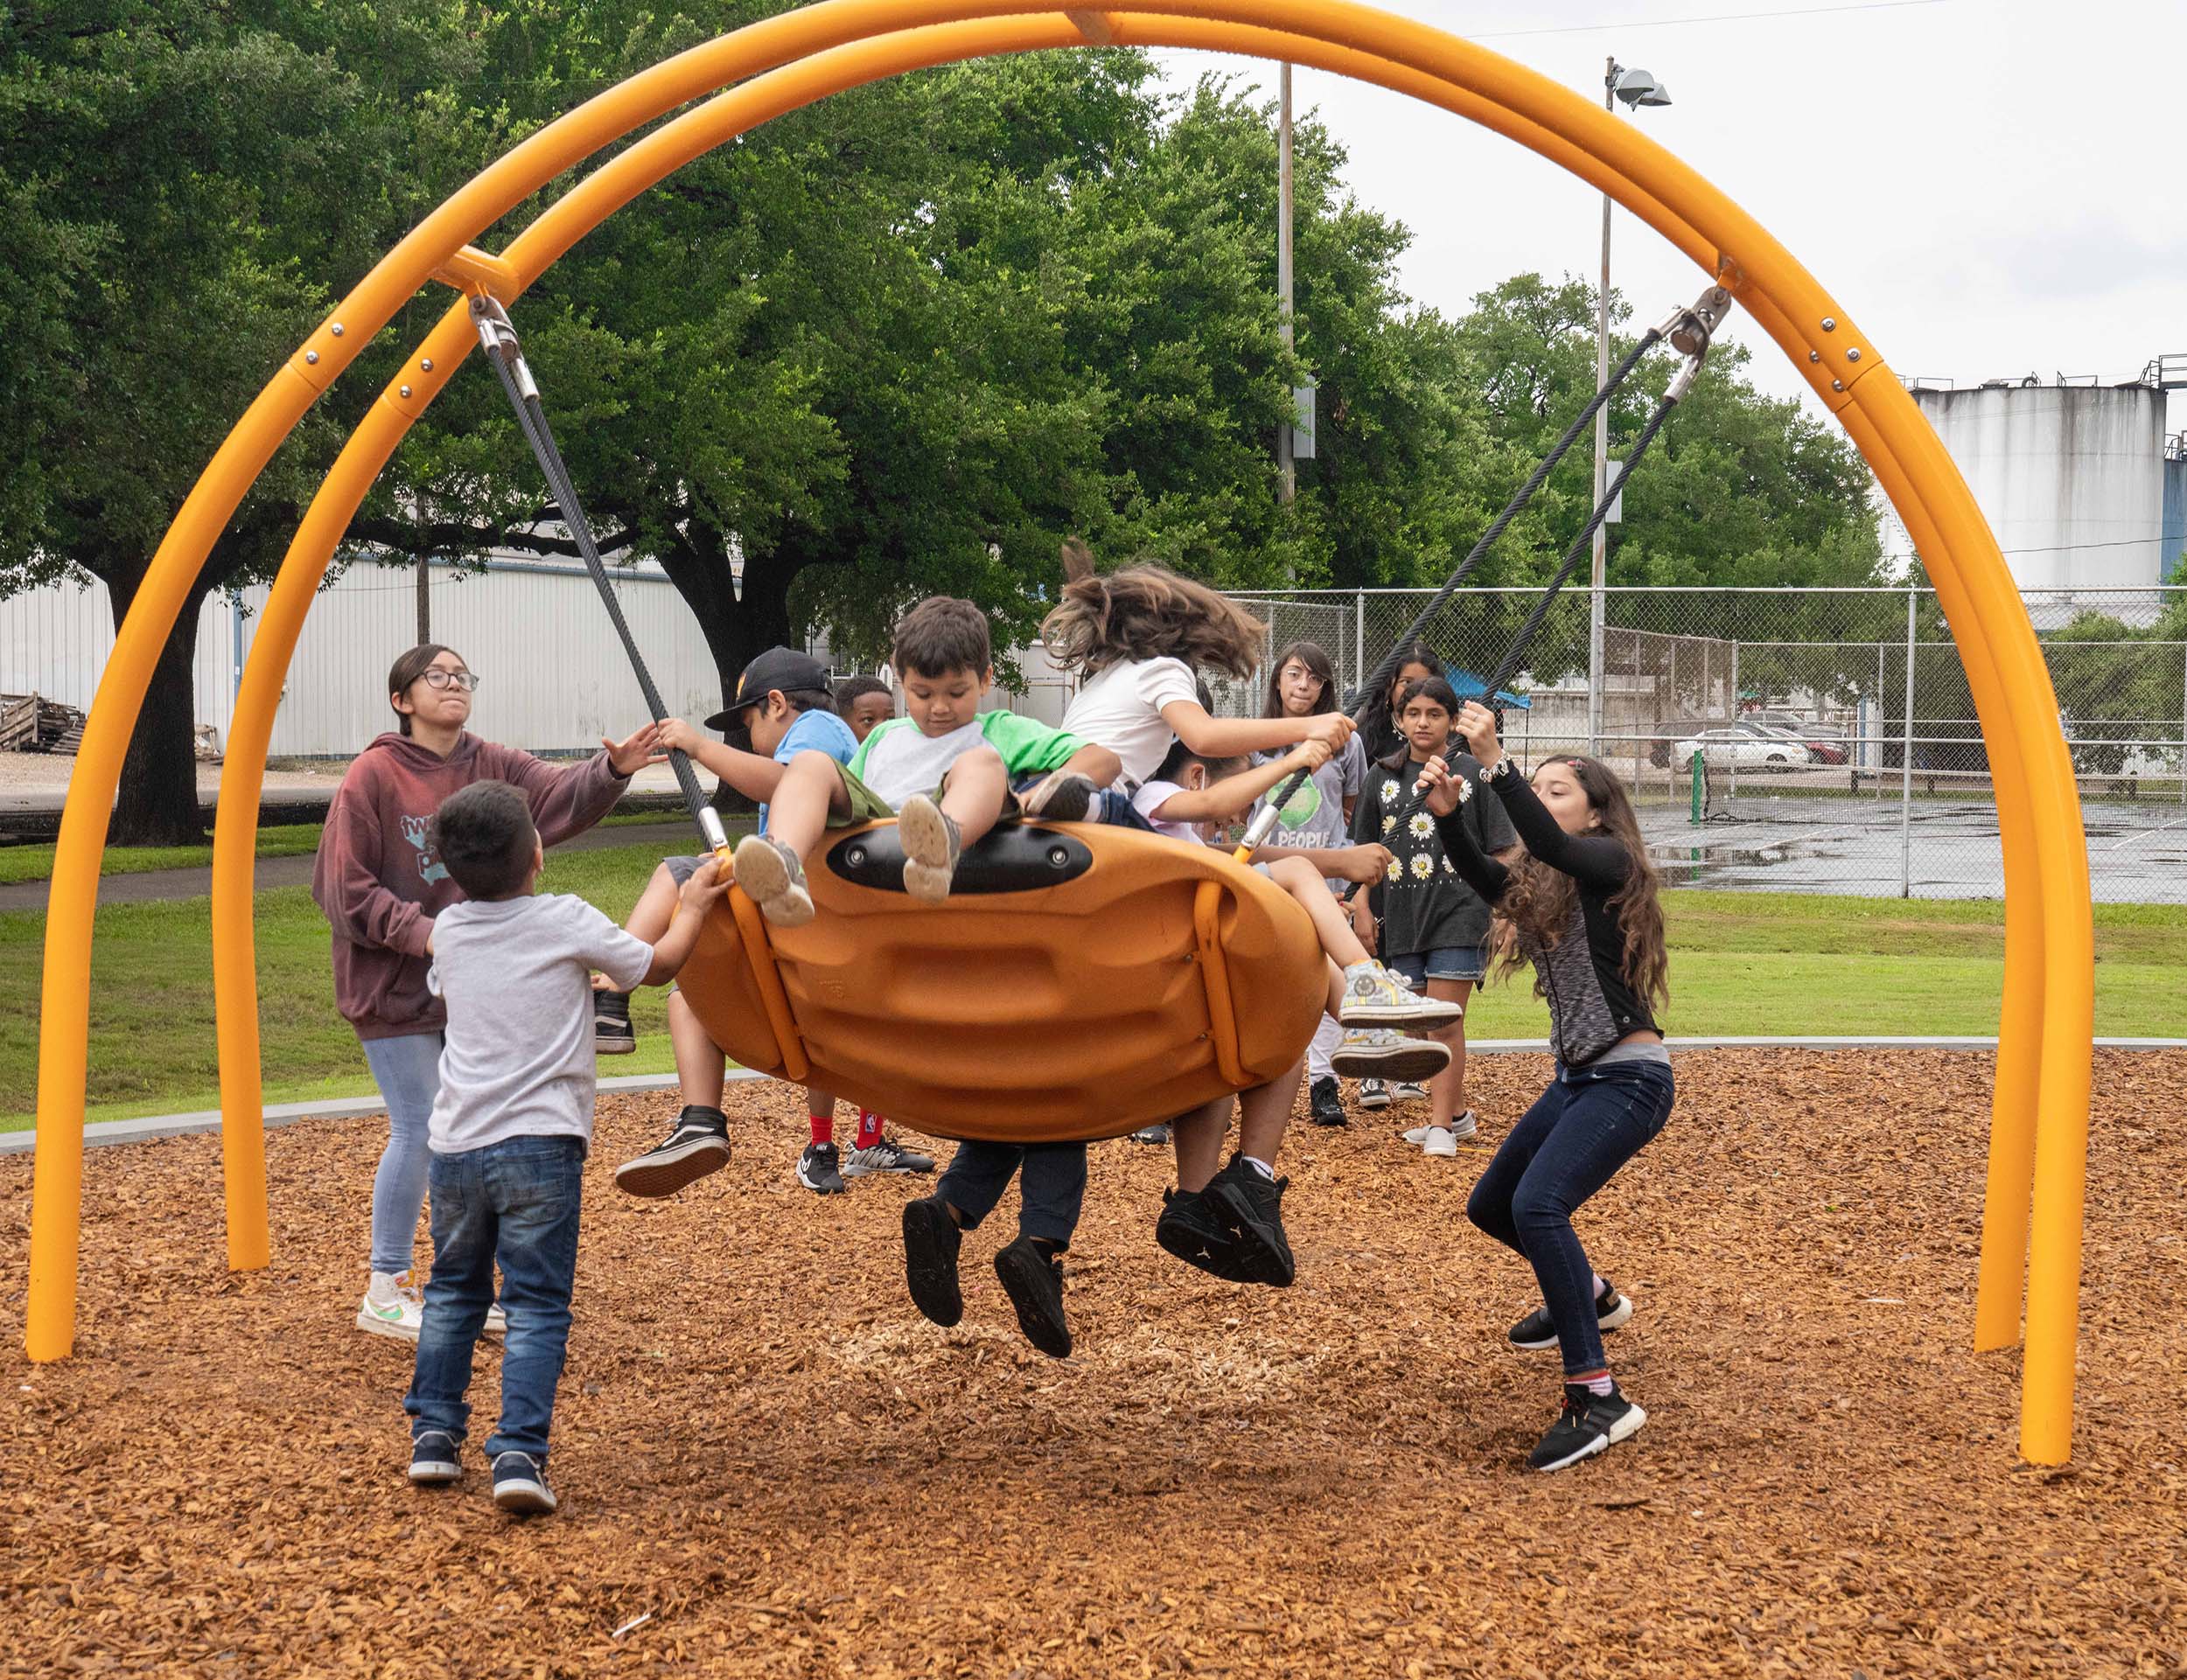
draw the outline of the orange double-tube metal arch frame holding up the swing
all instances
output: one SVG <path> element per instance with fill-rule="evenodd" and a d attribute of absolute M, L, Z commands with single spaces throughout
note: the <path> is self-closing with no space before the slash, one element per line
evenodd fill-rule
<path fill-rule="evenodd" d="M 2025 1264 L 2021 1452 L 2062 1463 L 2073 1428 L 2093 1037 L 2089 864 L 2049 674 L 1997 540 L 1874 343 L 1745 210 L 1592 101 L 1454 35 L 1349 0 L 1135 0 L 1118 11 L 1056 0 L 824 0 L 691 48 L 540 129 L 442 203 L 341 300 L 258 394 L 177 512 L 83 733 L 48 897 L 28 1356 L 66 1358 L 74 1343 L 92 925 L 122 752 L 190 582 L 280 440 L 429 280 L 507 302 L 647 186 L 759 122 L 905 70 L 1087 44 L 1308 63 L 1428 101 L 1529 147 L 1614 197 L 1728 287 L 1868 459 L 1951 621 L 1997 783 L 2005 998 L 1975 1345 L 2016 1339 Z M 577 184 L 501 256 L 470 247 L 566 168 L 730 83 L 739 85 Z M 273 704 L 335 542 L 472 343 L 457 300 L 381 392 L 297 527 L 236 696 L 212 882 L 227 1245 L 236 1269 L 267 1262 L 252 875 Z"/>

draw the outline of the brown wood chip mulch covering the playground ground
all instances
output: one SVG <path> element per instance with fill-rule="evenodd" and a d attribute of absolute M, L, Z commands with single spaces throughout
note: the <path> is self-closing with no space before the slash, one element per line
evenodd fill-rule
<path fill-rule="evenodd" d="M 1968 1352 L 1986 1057 L 1693 1052 L 1583 1218 L 1638 1302 L 1640 1435 L 1524 1452 L 1553 1354 L 1417 1113 L 1299 1127 L 1299 1284 L 1155 1249 L 1168 1162 L 1094 1155 L 1078 1354 L 901 1280 L 919 1181 L 796 1188 L 803 1102 L 617 1197 L 667 1094 L 601 1105 L 551 1520 L 407 1485 L 402 1343 L 352 1328 L 385 1127 L 269 1135 L 273 1264 L 221 1264 L 219 1144 L 92 1151 L 77 1358 L 22 1358 L 28 1157 L 0 1164 L 0 1671 L 374 1676 L 2183 1676 L 2187 1054 L 2100 1052 L 2073 1466 L 2016 1463 Z M 1476 1061 L 1483 1144 L 1535 1057 Z M 494 1354 L 481 1356 L 486 1420 Z M 477 1393 L 477 1391 L 475 1391 Z M 483 1437 L 483 1420 L 479 1424 Z"/>

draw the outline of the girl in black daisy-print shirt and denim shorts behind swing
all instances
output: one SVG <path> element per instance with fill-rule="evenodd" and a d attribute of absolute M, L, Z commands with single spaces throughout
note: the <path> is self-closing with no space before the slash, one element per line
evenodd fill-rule
<path fill-rule="evenodd" d="M 1487 976 L 1489 906 L 1450 866 L 1435 818 L 1413 798 L 1413 783 L 1428 759 L 1443 759 L 1454 774 L 1481 766 L 1452 746 L 1459 696 L 1439 676 L 1406 685 L 1391 711 L 1400 746 L 1367 772 L 1367 790 L 1352 812 L 1352 838 L 1389 847 L 1382 882 L 1382 962 L 1428 998 L 1463 1004 Z M 1406 809 L 1411 807 L 1411 809 Z M 1494 798 L 1459 807 L 1483 855 L 1518 844 L 1511 818 Z M 1474 1111 L 1465 1105 L 1465 1019 L 1435 1032 L 1450 1046 L 1450 1068 L 1428 1081 L 1428 1124 L 1404 1133 L 1426 1155 L 1454 1157 L 1472 1138 Z"/>

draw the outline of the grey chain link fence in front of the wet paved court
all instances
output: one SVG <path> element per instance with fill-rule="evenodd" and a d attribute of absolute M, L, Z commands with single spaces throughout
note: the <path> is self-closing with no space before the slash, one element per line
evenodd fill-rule
<path fill-rule="evenodd" d="M 1317 641 L 1349 689 L 1432 591 L 1240 595 L 1268 656 Z M 1424 632 L 1481 691 L 1531 588 L 1463 591 Z M 2187 588 L 2030 591 L 2073 752 L 2095 897 L 2187 903 Z M 1610 588 L 1548 612 L 1502 698 L 1524 763 L 1625 777 L 1675 886 L 1999 897 L 1997 794 L 1966 672 L 1927 588 Z M 1266 672 L 1223 682 L 1260 711 Z"/>

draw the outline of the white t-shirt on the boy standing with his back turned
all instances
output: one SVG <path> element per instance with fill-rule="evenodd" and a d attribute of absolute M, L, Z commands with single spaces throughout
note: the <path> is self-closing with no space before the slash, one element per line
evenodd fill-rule
<path fill-rule="evenodd" d="M 426 984 L 448 1004 L 426 1142 L 464 1155 L 505 1138 L 593 1142 L 593 969 L 645 984 L 654 947 L 584 899 L 466 899 L 433 919 Z"/>

